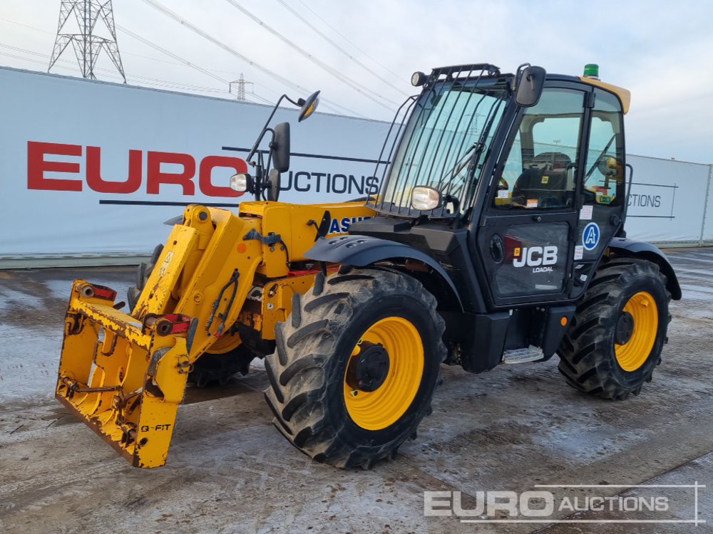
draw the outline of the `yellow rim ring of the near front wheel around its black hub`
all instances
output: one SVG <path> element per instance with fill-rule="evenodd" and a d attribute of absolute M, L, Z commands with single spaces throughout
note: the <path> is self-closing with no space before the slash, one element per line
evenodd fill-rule
<path fill-rule="evenodd" d="M 352 350 L 359 354 L 362 342 L 381 345 L 389 354 L 389 371 L 374 391 L 354 389 L 344 372 L 344 403 L 352 421 L 363 429 L 381 430 L 404 415 L 421 385 L 424 375 L 424 343 L 411 321 L 387 317 L 371 325 Z M 349 365 L 347 365 L 349 367 Z"/>

